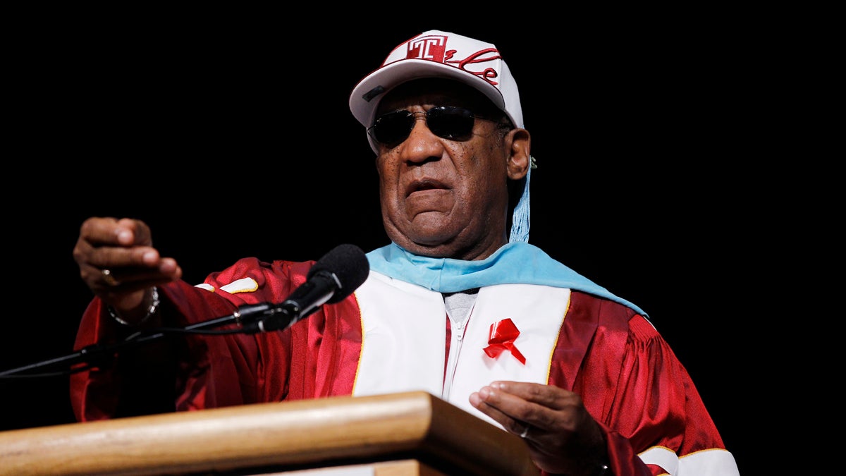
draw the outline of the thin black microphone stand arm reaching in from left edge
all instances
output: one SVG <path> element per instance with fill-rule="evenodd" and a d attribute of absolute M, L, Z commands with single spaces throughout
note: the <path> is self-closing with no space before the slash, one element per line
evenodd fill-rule
<path fill-rule="evenodd" d="M 280 312 L 287 313 L 288 311 L 283 307 L 279 307 L 278 305 L 272 305 L 266 302 L 261 302 L 259 304 L 248 304 L 240 306 L 238 310 L 235 311 L 233 314 L 222 318 L 213 318 L 206 321 L 202 321 L 200 323 L 190 324 L 188 326 L 185 326 L 184 328 L 179 329 L 179 332 L 190 332 L 198 329 L 214 329 L 228 324 L 239 324 L 242 326 L 242 331 L 244 333 L 255 334 L 260 330 L 258 326 L 244 327 L 244 324 L 261 323 L 261 321 L 263 321 L 265 318 L 268 318 Z M 121 340 L 120 342 L 107 346 L 102 344 L 91 344 L 91 346 L 85 346 L 79 351 L 75 351 L 74 353 L 63 357 L 56 357 L 37 363 L 30 363 L 29 365 L 25 365 L 19 368 L 11 368 L 9 370 L 0 372 L 0 377 L 21 374 L 40 368 L 51 368 L 54 366 L 58 366 L 59 364 L 72 366 L 76 363 L 96 363 L 98 361 L 105 360 L 106 358 L 113 358 L 114 355 L 118 353 L 118 351 L 122 351 L 130 347 L 139 346 L 140 344 L 150 342 L 151 340 L 161 339 L 162 337 L 168 334 L 168 332 L 157 331 L 157 329 L 151 329 L 151 331 L 151 334 L 135 334 L 138 336 L 127 340 Z"/>

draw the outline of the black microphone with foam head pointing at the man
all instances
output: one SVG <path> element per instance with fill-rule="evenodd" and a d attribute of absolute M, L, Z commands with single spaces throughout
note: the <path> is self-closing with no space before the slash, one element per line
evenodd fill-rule
<path fill-rule="evenodd" d="M 288 329 L 323 304 L 343 301 L 365 282 L 369 273 L 370 263 L 361 248 L 354 245 L 336 246 L 311 267 L 305 283 L 299 285 L 277 308 L 269 313 L 265 308 L 263 311 L 266 317 L 251 323 L 247 330 L 268 332 Z"/>

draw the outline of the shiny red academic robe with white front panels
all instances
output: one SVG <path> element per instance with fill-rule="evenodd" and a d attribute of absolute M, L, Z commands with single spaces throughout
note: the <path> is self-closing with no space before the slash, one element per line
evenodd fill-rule
<path fill-rule="evenodd" d="M 184 327 L 231 315 L 242 305 L 283 302 L 305 282 L 312 263 L 263 263 L 244 258 L 209 275 L 203 285 L 182 281 L 164 285 L 160 288 L 162 316 L 168 325 Z M 464 331 L 467 339 L 461 344 L 465 349 L 461 358 L 469 355 L 466 360 L 472 362 L 464 368 L 459 363 L 448 401 L 482 418 L 481 412 L 467 402 L 468 392 L 491 379 L 556 385 L 580 394 L 591 415 L 602 423 L 617 476 L 738 473 L 689 374 L 648 320 L 623 304 L 583 292 L 515 286 L 480 291 Z M 535 288 L 541 289 L 533 295 Z M 531 297 L 535 295 L 536 299 Z M 555 296 L 552 307 L 547 302 L 552 301 L 549 296 Z M 442 396 L 442 385 L 451 380 L 444 377 L 445 359 L 449 347 L 456 345 L 455 332 L 444 325 L 446 313 L 442 311 L 428 320 L 403 320 L 408 313 L 437 309 L 438 302 L 443 309 L 440 293 L 371 273 L 354 294 L 322 306 L 289 329 L 255 335 L 180 337 L 182 345 L 169 365 L 175 369 L 175 385 L 169 382 L 171 388 L 166 390 L 176 389 L 173 409 L 177 411 L 416 390 L 412 387 L 418 384 Z M 490 312 L 511 302 L 515 302 L 514 307 L 503 311 L 507 315 Z M 524 307 L 550 307 L 552 311 L 541 317 L 534 311 L 522 315 Z M 527 356 L 526 363 L 520 363 L 508 351 L 493 363 L 485 360 L 492 357 L 482 355 L 481 335 L 487 332 L 489 322 L 504 317 L 513 317 L 524 333 L 521 337 L 525 340 L 516 340 L 515 344 Z M 420 326 L 413 338 L 403 336 L 408 334 L 404 330 L 407 325 Z M 114 340 L 121 332 L 127 331 L 109 317 L 99 299 L 94 299 L 80 324 L 76 348 Z M 374 352 L 398 352 L 393 348 L 396 340 L 411 357 L 404 360 L 400 355 L 382 362 L 420 366 L 419 372 L 404 372 L 419 381 L 411 377 L 397 380 L 393 378 L 396 369 L 371 364 L 376 362 Z M 363 344 L 365 341 L 367 344 Z M 367 352 L 371 352 L 369 357 Z M 131 409 L 121 407 L 120 400 L 125 395 L 122 388 L 131 385 L 135 377 L 121 365 L 120 358 L 107 368 L 72 377 L 72 402 L 80 421 L 131 413 Z M 119 373 L 118 368 L 122 369 Z M 486 368 L 491 374 L 478 376 L 478 370 Z"/>

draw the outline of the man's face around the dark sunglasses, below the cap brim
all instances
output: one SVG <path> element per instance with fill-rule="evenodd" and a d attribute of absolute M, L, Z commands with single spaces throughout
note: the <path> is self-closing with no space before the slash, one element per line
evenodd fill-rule
<path fill-rule="evenodd" d="M 477 116 L 470 134 L 444 138 L 426 111 L 465 108 Z M 508 239 L 508 138 L 492 106 L 469 86 L 417 80 L 390 91 L 376 112 L 415 113 L 404 139 L 378 145 L 382 220 L 392 241 L 433 257 L 481 259 Z M 454 112 L 450 110 L 449 112 Z M 488 112 L 489 114 L 486 114 Z M 438 134 L 432 132 L 435 129 Z"/>

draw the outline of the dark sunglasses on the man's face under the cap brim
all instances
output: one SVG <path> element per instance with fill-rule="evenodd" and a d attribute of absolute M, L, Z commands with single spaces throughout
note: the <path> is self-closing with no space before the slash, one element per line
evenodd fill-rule
<path fill-rule="evenodd" d="M 393 147 L 408 138 L 415 128 L 417 114 L 426 114 L 426 127 L 435 136 L 450 141 L 466 141 L 473 135 L 476 116 L 465 108 L 438 106 L 424 112 L 394 111 L 379 116 L 367 132 L 376 142 Z M 491 120 L 491 119 L 487 119 Z"/>

